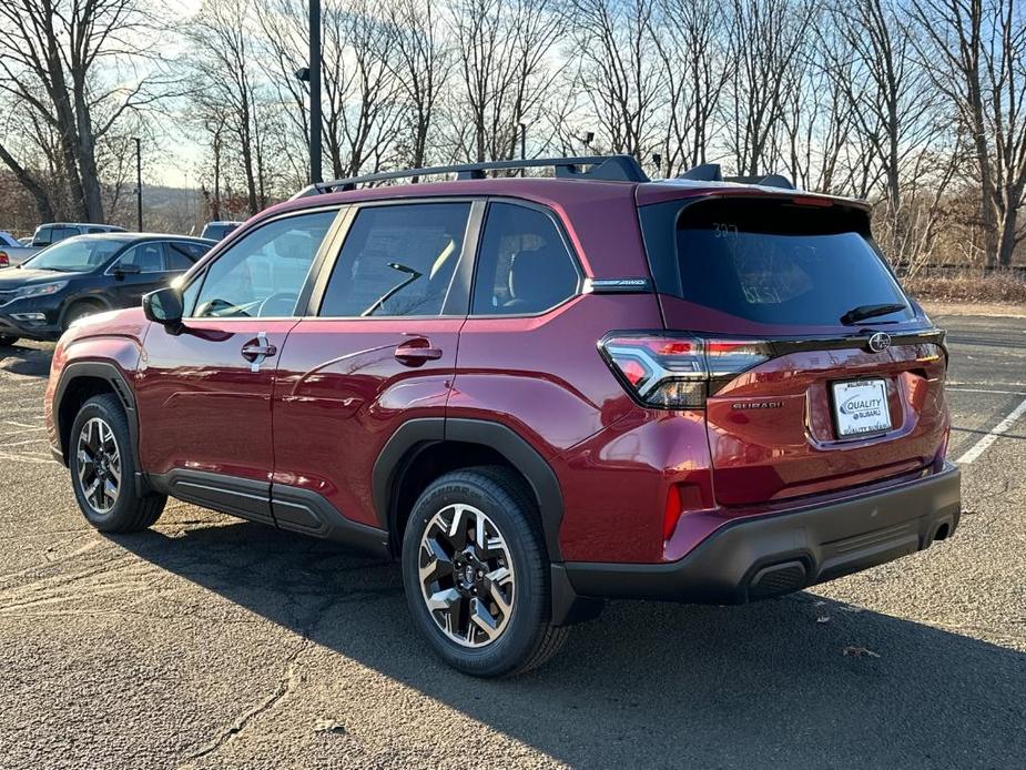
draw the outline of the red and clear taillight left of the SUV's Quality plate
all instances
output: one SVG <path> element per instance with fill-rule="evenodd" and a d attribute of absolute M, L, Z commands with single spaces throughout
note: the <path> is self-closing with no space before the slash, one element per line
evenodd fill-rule
<path fill-rule="evenodd" d="M 599 351 L 642 404 L 694 409 L 717 385 L 769 359 L 765 343 L 691 335 L 612 332 Z"/>

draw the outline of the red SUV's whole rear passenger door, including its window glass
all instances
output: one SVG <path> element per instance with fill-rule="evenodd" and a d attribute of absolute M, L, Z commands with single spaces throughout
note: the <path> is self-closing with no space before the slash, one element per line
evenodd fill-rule
<path fill-rule="evenodd" d="M 456 200 L 354 210 L 312 300 L 321 317 L 291 332 L 280 364 L 276 484 L 383 526 L 370 489 L 378 454 L 406 421 L 445 415 L 467 314 L 470 212 Z"/>

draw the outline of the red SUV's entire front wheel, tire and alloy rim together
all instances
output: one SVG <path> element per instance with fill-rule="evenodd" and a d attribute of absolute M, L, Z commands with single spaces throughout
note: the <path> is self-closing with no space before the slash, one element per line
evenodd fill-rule
<path fill-rule="evenodd" d="M 129 421 L 113 395 L 93 396 L 82 405 L 68 452 L 75 499 L 96 529 L 130 533 L 160 517 L 167 497 L 136 490 Z"/>

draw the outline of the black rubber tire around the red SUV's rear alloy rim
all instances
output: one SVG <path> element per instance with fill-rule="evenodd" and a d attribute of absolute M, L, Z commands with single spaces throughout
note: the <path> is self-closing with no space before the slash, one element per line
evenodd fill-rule
<path fill-rule="evenodd" d="M 421 590 L 421 538 L 431 519 L 448 506 L 482 511 L 499 530 L 514 566 L 511 610 L 501 634 L 481 647 L 461 646 L 436 622 Z M 403 537 L 403 582 L 414 625 L 449 666 L 475 677 L 522 673 L 552 657 L 567 636 L 553 627 L 549 559 L 537 506 L 524 480 L 501 466 L 455 470 L 420 495 Z M 455 570 L 457 574 L 459 570 Z M 445 611 L 445 610 L 443 610 Z"/>

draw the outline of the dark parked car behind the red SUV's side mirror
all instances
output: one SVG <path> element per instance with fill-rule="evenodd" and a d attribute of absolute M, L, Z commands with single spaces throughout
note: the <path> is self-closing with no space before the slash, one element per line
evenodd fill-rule
<path fill-rule="evenodd" d="M 180 235 L 78 235 L 0 272 L 0 345 L 57 340 L 72 322 L 138 306 L 191 267 L 212 241 Z"/>

